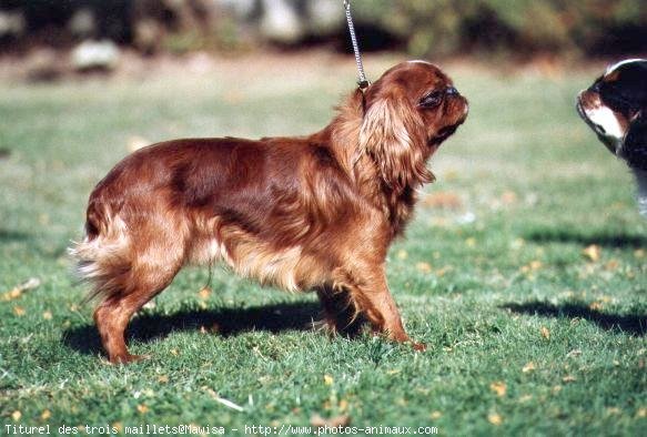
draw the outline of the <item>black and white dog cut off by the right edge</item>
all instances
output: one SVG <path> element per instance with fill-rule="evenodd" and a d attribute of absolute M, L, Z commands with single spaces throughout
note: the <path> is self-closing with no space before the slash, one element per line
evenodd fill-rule
<path fill-rule="evenodd" d="M 636 175 L 638 205 L 647 216 L 647 60 L 628 59 L 609 67 L 579 93 L 577 111 Z"/>

